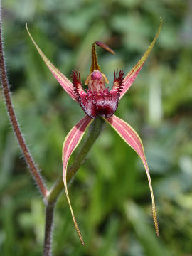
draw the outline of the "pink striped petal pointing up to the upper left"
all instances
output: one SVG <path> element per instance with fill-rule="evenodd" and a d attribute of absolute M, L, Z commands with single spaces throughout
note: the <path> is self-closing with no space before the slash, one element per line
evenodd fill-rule
<path fill-rule="evenodd" d="M 38 50 L 38 53 L 41 55 L 41 58 L 43 59 L 43 61 L 46 63 L 46 65 L 48 66 L 50 72 L 54 75 L 54 77 L 56 78 L 56 80 L 58 80 L 58 82 L 60 83 L 60 85 L 63 87 L 63 89 L 68 92 L 68 94 L 70 95 L 70 97 L 72 97 L 73 100 L 77 101 L 76 99 L 76 95 L 75 92 L 73 92 L 73 83 L 70 82 L 70 80 L 68 80 L 68 78 L 65 77 L 65 75 L 63 75 L 60 70 L 58 70 L 57 68 L 55 68 L 55 66 L 50 62 L 50 60 L 48 60 L 48 58 L 46 57 L 46 55 L 44 55 L 44 53 L 42 52 L 42 50 L 38 47 L 38 45 L 36 44 L 36 42 L 34 41 L 33 37 L 31 36 L 31 33 L 28 31 L 28 27 L 26 25 L 26 30 L 28 32 L 28 35 L 30 36 L 34 46 L 36 46 L 36 49 Z"/>

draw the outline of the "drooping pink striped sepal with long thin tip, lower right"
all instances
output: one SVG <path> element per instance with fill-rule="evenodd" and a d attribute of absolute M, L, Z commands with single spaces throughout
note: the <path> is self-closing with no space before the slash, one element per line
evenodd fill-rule
<path fill-rule="evenodd" d="M 142 144 L 142 140 L 139 138 L 139 135 L 137 134 L 137 132 L 135 132 L 134 129 L 129 124 L 127 124 L 127 122 L 124 122 L 122 119 L 119 119 L 119 117 L 116 117 L 115 115 L 113 115 L 110 118 L 105 118 L 105 120 L 112 126 L 112 128 L 119 134 L 119 136 L 122 137 L 122 139 L 124 139 L 124 142 L 126 142 L 129 146 L 131 146 L 132 149 L 134 149 L 134 151 L 136 151 L 137 154 L 142 159 L 144 168 L 146 170 L 146 175 L 149 181 L 149 188 L 150 188 L 151 199 L 152 199 L 152 213 L 154 218 L 156 235 L 159 237 L 159 228 L 158 228 L 158 223 L 156 218 L 154 193 L 151 185 L 149 167 L 147 165 L 146 158 L 144 155 L 144 146 Z"/>

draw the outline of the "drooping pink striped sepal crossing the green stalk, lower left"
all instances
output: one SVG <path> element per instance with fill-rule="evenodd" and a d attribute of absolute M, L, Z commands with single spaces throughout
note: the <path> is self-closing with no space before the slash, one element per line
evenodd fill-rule
<path fill-rule="evenodd" d="M 65 187 L 65 193 L 68 199 L 68 203 L 70 206 L 70 212 L 73 217 L 73 223 L 75 225 L 76 230 L 78 231 L 78 235 L 80 238 L 80 241 L 82 242 L 82 245 L 85 245 L 85 243 L 82 240 L 82 235 L 80 233 L 80 229 L 78 228 L 78 223 L 75 220 L 75 215 L 73 213 L 72 206 L 70 204 L 70 198 L 68 195 L 68 186 L 67 186 L 67 166 L 68 166 L 68 160 L 70 158 L 70 155 L 73 153 L 73 151 L 76 149 L 78 144 L 80 143 L 82 136 L 85 134 L 85 129 L 91 124 L 93 119 L 88 117 L 87 115 L 78 122 L 78 124 L 73 127 L 70 132 L 68 133 L 68 136 L 65 138 L 65 141 L 63 142 L 63 182 Z"/>

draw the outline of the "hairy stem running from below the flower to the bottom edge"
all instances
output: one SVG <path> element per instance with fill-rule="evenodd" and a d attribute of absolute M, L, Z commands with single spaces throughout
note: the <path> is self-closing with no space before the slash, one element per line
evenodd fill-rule
<path fill-rule="evenodd" d="M 85 158 L 90 151 L 92 145 L 94 144 L 97 137 L 100 135 L 104 127 L 104 121 L 100 117 L 97 117 L 94 122 L 92 122 L 90 126 L 90 131 L 87 136 L 85 143 L 83 144 L 82 148 L 78 152 L 78 155 L 75 157 L 75 161 L 73 164 L 68 168 L 67 174 L 67 181 L 70 182 L 73 176 L 76 174 L 78 169 L 80 168 L 81 164 L 85 161 Z M 53 225 L 53 210 L 55 203 L 60 195 L 60 192 L 63 191 L 63 176 L 58 178 L 58 181 L 55 182 L 53 187 L 50 189 L 50 193 L 46 197 L 46 233 L 45 233 L 45 240 L 44 240 L 44 254 L 43 256 L 50 256 L 51 255 L 51 235 L 52 235 L 52 225 Z"/>

